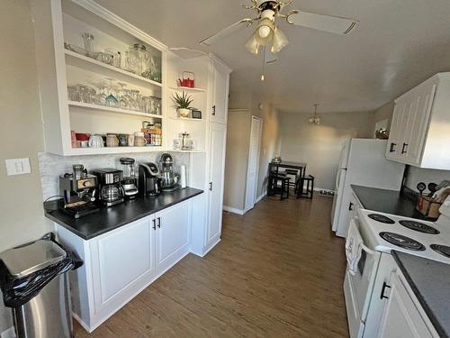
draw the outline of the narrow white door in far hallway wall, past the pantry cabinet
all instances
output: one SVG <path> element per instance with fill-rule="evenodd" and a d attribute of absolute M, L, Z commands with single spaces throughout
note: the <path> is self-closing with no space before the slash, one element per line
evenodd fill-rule
<path fill-rule="evenodd" d="M 250 145 L 248 149 L 246 210 L 252 209 L 257 201 L 257 176 L 259 168 L 259 147 L 261 142 L 261 131 L 261 119 L 256 116 L 252 116 Z"/>

